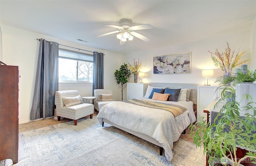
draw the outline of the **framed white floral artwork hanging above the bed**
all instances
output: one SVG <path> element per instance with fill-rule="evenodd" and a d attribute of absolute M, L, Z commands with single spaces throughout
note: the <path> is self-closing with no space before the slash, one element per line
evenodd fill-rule
<path fill-rule="evenodd" d="M 154 74 L 190 73 L 191 52 L 153 57 Z"/>

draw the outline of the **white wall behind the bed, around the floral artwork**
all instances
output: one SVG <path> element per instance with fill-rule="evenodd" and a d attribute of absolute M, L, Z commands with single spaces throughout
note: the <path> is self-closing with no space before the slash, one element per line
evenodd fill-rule
<path fill-rule="evenodd" d="M 202 70 L 214 69 L 214 78 L 211 78 L 211 85 L 217 86 L 214 83 L 217 76 L 221 76 L 223 72 L 219 67 L 214 66 L 211 60 L 211 54 L 217 48 L 220 52 L 224 52 L 226 48 L 226 41 L 229 43 L 232 51 L 240 52 L 246 51 L 243 55 L 244 59 L 250 59 L 250 31 L 236 32 L 232 34 L 223 34 L 214 38 L 189 42 L 174 46 L 162 47 L 157 49 L 148 49 L 144 52 L 135 52 L 127 55 L 128 62 L 135 60 L 142 60 L 142 67 L 140 71 L 146 72 L 144 82 L 171 82 L 171 83 L 194 83 L 204 84 L 202 78 Z M 153 57 L 161 55 L 176 54 L 182 52 L 191 52 L 191 74 L 153 74 Z M 256 56 L 254 54 L 254 56 Z M 255 61 L 254 61 L 255 62 Z M 249 64 L 249 63 L 247 63 Z M 235 70 L 232 70 L 235 72 Z M 132 74 L 133 75 L 133 74 Z M 132 79 L 129 79 L 132 82 Z"/>

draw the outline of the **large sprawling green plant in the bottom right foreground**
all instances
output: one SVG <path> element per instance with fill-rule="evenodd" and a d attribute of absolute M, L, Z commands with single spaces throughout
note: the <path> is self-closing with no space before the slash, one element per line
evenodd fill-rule
<path fill-rule="evenodd" d="M 245 94 L 244 98 L 251 96 Z M 226 163 L 230 166 L 240 166 L 240 162 L 245 159 L 256 164 L 256 107 L 253 106 L 256 103 L 248 102 L 241 107 L 235 100 L 226 102 L 221 98 L 216 104 L 223 106 L 214 122 L 209 121 L 206 124 L 206 120 L 202 120 L 190 125 L 194 144 L 197 148 L 203 146 L 211 166 L 227 165 Z M 253 114 L 241 114 L 246 110 L 253 110 Z M 237 147 L 245 148 L 248 153 L 238 158 Z M 212 164 L 216 159 L 219 164 Z"/>

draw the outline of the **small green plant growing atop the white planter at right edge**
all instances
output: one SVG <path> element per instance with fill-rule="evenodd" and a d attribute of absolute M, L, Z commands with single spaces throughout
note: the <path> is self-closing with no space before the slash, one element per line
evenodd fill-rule
<path fill-rule="evenodd" d="M 254 82 L 256 80 L 256 69 L 254 71 L 250 71 L 247 68 L 244 69 L 247 73 L 240 71 L 234 76 L 234 85 L 244 82 Z"/>

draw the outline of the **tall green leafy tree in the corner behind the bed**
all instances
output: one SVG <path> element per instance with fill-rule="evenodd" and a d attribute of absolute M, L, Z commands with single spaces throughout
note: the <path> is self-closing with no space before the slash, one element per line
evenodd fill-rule
<path fill-rule="evenodd" d="M 116 72 L 114 73 L 115 78 L 116 78 L 116 82 L 117 84 L 121 84 L 122 85 L 122 100 L 123 100 L 123 85 L 128 82 L 128 78 L 131 76 L 131 72 L 127 66 L 127 64 L 123 64 L 121 65 L 121 67 L 119 68 L 119 70 L 116 70 Z"/>

